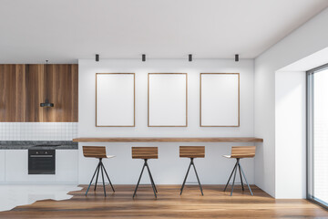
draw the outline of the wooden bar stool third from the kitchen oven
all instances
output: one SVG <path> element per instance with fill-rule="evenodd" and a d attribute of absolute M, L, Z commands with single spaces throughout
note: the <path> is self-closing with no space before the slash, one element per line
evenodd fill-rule
<path fill-rule="evenodd" d="M 200 193 L 201 195 L 204 195 L 202 192 L 202 187 L 200 184 L 200 178 L 197 174 L 195 163 L 193 162 L 194 158 L 204 158 L 205 157 L 205 146 L 179 146 L 179 157 L 180 158 L 190 158 L 190 165 L 188 168 L 188 171 L 186 173 L 186 176 L 184 178 L 184 181 L 182 183 L 181 189 L 180 189 L 180 194 L 183 192 L 183 188 L 186 184 L 186 180 L 188 177 L 188 174 L 190 172 L 190 166 L 192 165 L 194 168 L 194 171 L 196 173 L 197 181 L 200 185 Z"/>

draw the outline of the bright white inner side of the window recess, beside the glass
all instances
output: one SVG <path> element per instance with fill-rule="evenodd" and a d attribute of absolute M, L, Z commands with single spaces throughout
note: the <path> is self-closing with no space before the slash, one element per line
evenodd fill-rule
<path fill-rule="evenodd" d="M 278 71 L 275 87 L 275 197 L 306 198 L 305 72 Z"/>

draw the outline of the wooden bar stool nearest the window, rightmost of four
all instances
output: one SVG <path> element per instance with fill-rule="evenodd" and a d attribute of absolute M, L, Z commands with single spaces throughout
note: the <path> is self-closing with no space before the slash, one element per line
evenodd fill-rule
<path fill-rule="evenodd" d="M 232 187 L 231 187 L 231 195 L 232 195 L 232 192 L 233 192 L 233 186 L 234 186 L 234 182 L 235 182 L 235 179 L 236 179 L 237 167 L 239 168 L 240 176 L 241 176 L 241 173 L 242 173 L 242 176 L 244 177 L 244 179 L 247 183 L 247 186 L 248 186 L 248 188 L 251 192 L 251 187 L 250 187 L 249 183 L 247 182 L 245 173 L 242 171 L 240 160 L 241 160 L 241 158 L 252 158 L 252 157 L 254 157 L 255 156 L 255 150 L 256 150 L 255 146 L 232 147 L 231 148 L 231 155 L 223 155 L 223 157 L 225 157 L 225 158 L 235 158 L 236 159 L 236 164 L 234 165 L 233 170 L 231 172 L 231 176 L 234 172 L 233 182 L 232 182 Z M 224 192 L 226 191 L 227 186 L 230 183 L 231 176 L 229 177 L 228 183 L 224 187 Z M 241 177 L 241 188 L 242 188 L 242 191 L 244 191 L 244 186 L 243 186 L 243 183 L 242 183 L 242 177 Z M 251 193 L 251 195 L 253 195 L 253 194 Z"/>

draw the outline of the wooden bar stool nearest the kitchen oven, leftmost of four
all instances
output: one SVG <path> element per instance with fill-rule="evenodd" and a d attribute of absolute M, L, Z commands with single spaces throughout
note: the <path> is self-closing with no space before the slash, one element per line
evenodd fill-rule
<path fill-rule="evenodd" d="M 98 179 L 98 175 L 99 175 L 99 171 L 101 170 L 101 176 L 102 176 L 102 181 L 103 181 L 103 187 L 104 187 L 104 194 L 105 194 L 105 197 L 106 197 L 106 188 L 105 188 L 105 180 L 104 180 L 104 172 L 106 173 L 106 176 L 108 178 L 108 181 L 109 181 L 109 184 L 113 190 L 113 192 L 115 192 L 114 190 L 114 187 L 112 185 L 112 183 L 110 182 L 109 180 L 109 177 L 108 177 L 108 172 L 106 171 L 105 169 L 105 166 L 102 162 L 102 159 L 103 158 L 113 158 L 115 156 L 113 155 L 107 155 L 106 153 L 106 147 L 98 147 L 98 146 L 83 146 L 83 155 L 85 157 L 89 157 L 89 158 L 97 158 L 99 159 L 99 162 L 97 164 L 97 168 L 96 168 L 96 171 L 95 173 L 93 174 L 92 176 L 92 179 L 87 187 L 87 192 L 91 186 L 91 183 L 93 181 L 93 179 L 95 178 L 95 175 L 96 175 L 96 172 L 97 172 L 97 178 L 96 178 L 96 183 L 95 183 L 95 191 L 97 189 L 97 179 Z M 87 195 L 87 192 L 86 192 L 86 195 Z"/>

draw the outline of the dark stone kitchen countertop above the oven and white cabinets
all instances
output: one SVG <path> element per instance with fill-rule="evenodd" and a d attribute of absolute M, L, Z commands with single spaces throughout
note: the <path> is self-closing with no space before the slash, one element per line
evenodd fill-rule
<path fill-rule="evenodd" d="M 0 150 L 28 149 L 77 150 L 78 143 L 73 141 L 0 141 Z"/>

